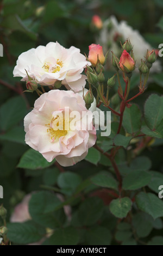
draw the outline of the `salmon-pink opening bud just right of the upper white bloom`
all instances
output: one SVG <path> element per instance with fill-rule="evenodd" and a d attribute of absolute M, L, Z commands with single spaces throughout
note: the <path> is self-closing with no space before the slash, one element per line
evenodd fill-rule
<path fill-rule="evenodd" d="M 105 56 L 103 53 L 103 47 L 96 44 L 91 44 L 89 46 L 89 56 L 88 59 L 92 63 L 93 66 L 96 66 L 97 60 L 99 59 L 99 62 L 101 64 L 104 64 L 105 62 Z"/>

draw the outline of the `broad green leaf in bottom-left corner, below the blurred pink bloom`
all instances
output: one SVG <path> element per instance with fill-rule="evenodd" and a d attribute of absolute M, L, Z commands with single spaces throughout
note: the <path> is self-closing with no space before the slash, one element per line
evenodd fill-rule
<path fill-rule="evenodd" d="M 11 242 L 21 245 L 38 242 L 46 234 L 45 228 L 40 227 L 33 221 L 25 223 L 8 223 L 7 237 Z"/>

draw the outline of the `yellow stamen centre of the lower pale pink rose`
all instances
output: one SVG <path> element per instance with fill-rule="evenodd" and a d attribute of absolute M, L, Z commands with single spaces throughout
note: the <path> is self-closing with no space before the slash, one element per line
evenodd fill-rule
<path fill-rule="evenodd" d="M 65 118 L 57 115 L 57 117 L 52 118 L 50 124 L 46 124 L 46 126 L 48 126 L 47 133 L 51 135 L 52 142 L 54 141 L 57 142 L 60 137 L 67 135 L 68 130 L 65 130 L 65 126 L 66 126 L 65 123 L 66 123 Z M 69 127 L 69 124 L 68 124 L 68 127 Z"/>

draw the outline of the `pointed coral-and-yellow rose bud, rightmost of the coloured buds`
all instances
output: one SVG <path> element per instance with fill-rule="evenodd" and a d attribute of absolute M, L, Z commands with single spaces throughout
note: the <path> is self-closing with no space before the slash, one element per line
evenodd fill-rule
<path fill-rule="evenodd" d="M 124 50 L 120 58 L 120 69 L 126 73 L 130 73 L 135 69 L 134 59 L 131 58 L 130 54 Z"/>

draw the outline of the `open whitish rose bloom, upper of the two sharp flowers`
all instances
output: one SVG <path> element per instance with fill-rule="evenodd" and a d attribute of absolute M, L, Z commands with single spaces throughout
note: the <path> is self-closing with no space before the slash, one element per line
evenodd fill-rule
<path fill-rule="evenodd" d="M 74 92 L 85 87 L 86 76 L 81 73 L 86 65 L 91 65 L 78 48 L 71 46 L 66 49 L 58 42 L 23 52 L 16 64 L 13 74 L 14 77 L 23 77 L 21 81 L 28 80 L 27 70 L 28 75 L 43 86 L 54 86 L 59 80 Z"/>

